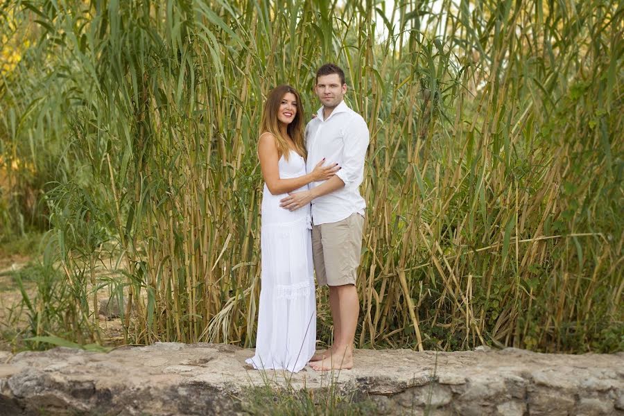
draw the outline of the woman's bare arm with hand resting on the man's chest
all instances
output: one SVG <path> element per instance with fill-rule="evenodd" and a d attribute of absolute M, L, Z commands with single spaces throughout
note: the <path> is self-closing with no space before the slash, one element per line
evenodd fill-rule
<path fill-rule="evenodd" d="M 295 189 L 300 189 L 310 182 L 329 179 L 329 177 L 335 175 L 336 171 L 339 169 L 337 166 L 338 164 L 322 166 L 324 162 L 322 160 L 311 173 L 306 173 L 299 177 L 281 179 L 279 177 L 278 168 L 279 153 L 275 145 L 275 138 L 268 132 L 260 136 L 258 141 L 258 157 L 260 159 L 262 177 L 264 178 L 269 192 L 273 195 L 295 191 Z"/>

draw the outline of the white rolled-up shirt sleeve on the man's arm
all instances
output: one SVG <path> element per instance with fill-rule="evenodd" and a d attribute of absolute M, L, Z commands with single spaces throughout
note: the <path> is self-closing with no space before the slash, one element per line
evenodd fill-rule
<path fill-rule="evenodd" d="M 370 141 L 368 127 L 360 116 L 345 126 L 343 132 L 345 147 L 343 148 L 343 163 L 336 176 L 345 183 L 345 187 L 364 177 L 364 158 Z"/>

